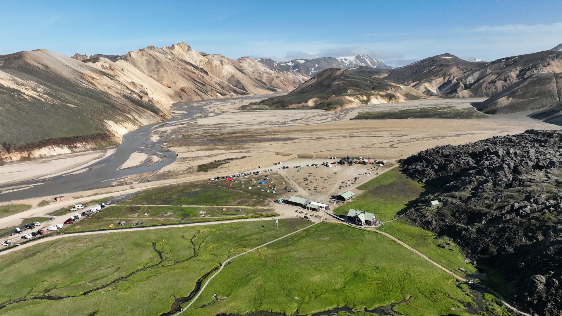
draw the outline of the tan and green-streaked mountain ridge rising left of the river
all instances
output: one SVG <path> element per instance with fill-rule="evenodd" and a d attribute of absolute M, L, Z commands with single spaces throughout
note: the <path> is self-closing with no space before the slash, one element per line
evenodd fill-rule
<path fill-rule="evenodd" d="M 286 91 L 309 78 L 185 43 L 87 57 L 46 49 L 0 56 L 0 160 L 104 146 L 169 118 L 175 102 Z"/>

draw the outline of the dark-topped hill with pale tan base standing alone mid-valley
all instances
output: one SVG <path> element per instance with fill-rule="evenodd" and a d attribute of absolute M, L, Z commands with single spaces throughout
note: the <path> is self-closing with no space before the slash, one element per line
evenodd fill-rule
<path fill-rule="evenodd" d="M 360 105 L 404 102 L 424 98 L 424 94 L 404 85 L 339 68 L 322 71 L 292 92 L 250 103 L 242 109 L 307 107 L 337 111 Z"/>

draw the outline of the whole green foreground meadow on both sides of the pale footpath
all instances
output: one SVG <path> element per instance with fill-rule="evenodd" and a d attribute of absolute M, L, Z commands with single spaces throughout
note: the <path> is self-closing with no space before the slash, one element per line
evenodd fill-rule
<path fill-rule="evenodd" d="M 160 315 L 230 256 L 307 225 L 283 219 L 277 231 L 264 220 L 33 245 L 0 256 L 0 314 Z M 469 315 L 465 306 L 475 306 L 454 278 L 389 238 L 320 223 L 234 259 L 184 314 L 309 314 L 338 305 L 427 316 Z"/>

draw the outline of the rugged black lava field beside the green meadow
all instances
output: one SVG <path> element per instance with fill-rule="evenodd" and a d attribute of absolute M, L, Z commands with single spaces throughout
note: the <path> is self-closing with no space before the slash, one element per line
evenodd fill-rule
<path fill-rule="evenodd" d="M 434 189 L 403 218 L 452 238 L 517 308 L 561 315 L 561 149 L 561 130 L 527 130 L 419 152 L 402 170 Z"/>

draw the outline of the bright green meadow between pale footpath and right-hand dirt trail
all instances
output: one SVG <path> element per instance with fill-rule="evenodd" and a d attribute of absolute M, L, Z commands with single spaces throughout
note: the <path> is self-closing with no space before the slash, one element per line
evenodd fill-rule
<path fill-rule="evenodd" d="M 402 315 L 466 315 L 464 305 L 473 302 L 458 286 L 387 237 L 322 223 L 235 259 L 212 279 L 187 315 L 254 310 L 306 315 L 336 306 L 385 306 Z M 215 301 L 213 294 L 221 300 Z"/>

